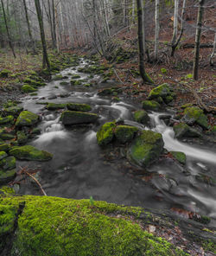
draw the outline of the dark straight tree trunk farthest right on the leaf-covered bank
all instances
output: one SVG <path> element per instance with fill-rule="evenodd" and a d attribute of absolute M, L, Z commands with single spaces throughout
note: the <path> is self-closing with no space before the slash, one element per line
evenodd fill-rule
<path fill-rule="evenodd" d="M 205 0 L 199 1 L 199 10 L 197 15 L 197 23 L 196 23 L 196 37 L 195 37 L 195 52 L 194 52 L 194 67 L 193 67 L 193 78 L 194 80 L 198 80 L 198 69 L 199 69 L 199 59 L 200 59 L 200 35 L 201 35 L 201 27 L 202 27 L 202 17 L 204 8 L 203 5 Z"/>

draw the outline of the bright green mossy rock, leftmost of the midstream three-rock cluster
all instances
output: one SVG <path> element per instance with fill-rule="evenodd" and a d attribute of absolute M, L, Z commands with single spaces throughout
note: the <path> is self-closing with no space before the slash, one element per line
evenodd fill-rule
<path fill-rule="evenodd" d="M 111 143 L 114 138 L 115 122 L 105 123 L 102 125 L 97 132 L 98 145 L 104 146 Z"/>

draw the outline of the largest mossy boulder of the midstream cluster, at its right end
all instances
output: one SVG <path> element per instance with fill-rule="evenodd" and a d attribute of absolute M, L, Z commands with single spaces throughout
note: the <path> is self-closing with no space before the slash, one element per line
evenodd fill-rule
<path fill-rule="evenodd" d="M 160 157 L 163 144 L 162 134 L 154 131 L 143 131 L 131 144 L 127 157 L 130 162 L 147 167 Z"/>

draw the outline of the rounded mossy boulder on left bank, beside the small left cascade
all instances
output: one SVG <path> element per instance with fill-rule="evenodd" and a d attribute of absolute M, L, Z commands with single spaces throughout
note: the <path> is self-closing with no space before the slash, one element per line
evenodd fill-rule
<path fill-rule="evenodd" d="M 16 127 L 32 126 L 38 123 L 39 116 L 33 112 L 22 111 L 16 120 Z"/>

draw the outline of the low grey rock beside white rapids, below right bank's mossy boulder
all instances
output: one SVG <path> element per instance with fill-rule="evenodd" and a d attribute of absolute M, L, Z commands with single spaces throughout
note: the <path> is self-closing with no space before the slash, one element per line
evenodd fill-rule
<path fill-rule="evenodd" d="M 184 137 L 201 137 L 200 131 L 197 131 L 194 128 L 191 128 L 187 124 L 180 123 L 174 125 L 175 138 L 184 138 Z"/>

